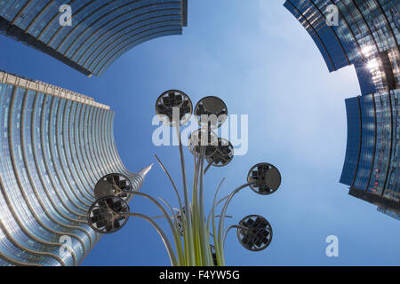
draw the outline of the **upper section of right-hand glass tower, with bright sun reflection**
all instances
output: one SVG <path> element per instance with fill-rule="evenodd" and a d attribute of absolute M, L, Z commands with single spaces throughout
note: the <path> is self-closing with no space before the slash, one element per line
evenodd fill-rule
<path fill-rule="evenodd" d="M 287 0 L 284 6 L 307 29 L 329 71 L 354 65 L 363 95 L 400 88 L 399 1 Z M 338 25 L 331 25 L 334 15 Z"/>

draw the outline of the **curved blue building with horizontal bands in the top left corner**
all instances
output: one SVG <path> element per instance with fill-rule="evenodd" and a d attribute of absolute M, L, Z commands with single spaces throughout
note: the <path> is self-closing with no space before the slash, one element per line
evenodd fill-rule
<path fill-rule="evenodd" d="M 0 0 L 0 32 L 88 76 L 187 23 L 188 0 Z"/>

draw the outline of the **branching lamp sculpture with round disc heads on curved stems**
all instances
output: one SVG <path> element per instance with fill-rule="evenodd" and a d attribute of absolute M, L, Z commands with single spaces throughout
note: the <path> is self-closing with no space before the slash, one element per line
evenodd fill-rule
<path fill-rule="evenodd" d="M 192 200 L 189 201 L 188 181 L 185 168 L 183 146 L 180 140 L 180 126 L 189 121 L 192 113 L 200 129 L 194 131 L 189 138 L 188 148 L 194 155 L 195 173 L 191 188 Z M 120 230 L 128 217 L 141 217 L 156 228 L 164 241 L 172 265 L 225 265 L 224 243 L 228 232 L 236 229 L 238 241 L 244 248 L 260 251 L 268 247 L 272 241 L 272 227 L 268 220 L 258 215 L 244 217 L 239 224 L 225 229 L 225 219 L 229 202 L 244 188 L 250 187 L 254 193 L 268 195 L 275 193 L 281 184 L 281 175 L 275 166 L 261 162 L 252 167 L 244 185 L 237 187 L 232 193 L 218 200 L 222 179 L 217 187 L 212 208 L 206 214 L 204 209 L 204 175 L 211 166 L 223 167 L 232 161 L 234 149 L 232 144 L 212 131 L 219 128 L 228 116 L 228 107 L 217 97 L 201 99 L 195 109 L 188 95 L 183 91 L 165 91 L 156 100 L 156 114 L 165 125 L 174 127 L 178 136 L 180 150 L 180 168 L 182 172 L 182 191 L 178 190 L 164 164 L 156 156 L 157 162 L 172 183 L 176 193 L 179 209 L 159 197 L 157 201 L 147 193 L 132 191 L 129 178 L 121 174 L 110 174 L 101 177 L 95 186 L 97 200 L 89 209 L 87 218 L 89 225 L 98 233 L 115 233 Z M 204 162 L 207 165 L 204 167 Z M 152 201 L 163 213 L 162 216 L 148 217 L 133 213 L 127 201 L 134 195 L 140 195 Z M 181 196 L 182 195 L 182 196 Z M 183 201 L 182 201 L 183 197 Z M 164 203 L 164 205 L 163 205 Z M 216 214 L 218 206 L 223 203 L 220 214 Z M 164 217 L 171 229 L 173 242 L 156 224 L 155 219 Z M 173 243 L 173 246 L 172 246 Z"/>

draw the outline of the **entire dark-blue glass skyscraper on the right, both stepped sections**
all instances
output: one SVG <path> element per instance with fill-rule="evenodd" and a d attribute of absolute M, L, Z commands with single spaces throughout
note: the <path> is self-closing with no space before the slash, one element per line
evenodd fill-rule
<path fill-rule="evenodd" d="M 346 99 L 348 143 L 340 183 L 400 219 L 400 2 L 287 0 L 329 71 L 354 65 L 362 96 Z"/>

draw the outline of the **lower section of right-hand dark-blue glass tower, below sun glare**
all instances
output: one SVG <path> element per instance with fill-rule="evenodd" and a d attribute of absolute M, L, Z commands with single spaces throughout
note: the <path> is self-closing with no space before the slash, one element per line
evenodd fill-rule
<path fill-rule="evenodd" d="M 400 210 L 399 99 L 399 89 L 346 99 L 348 146 L 340 177 L 351 195 L 391 211 Z"/>

